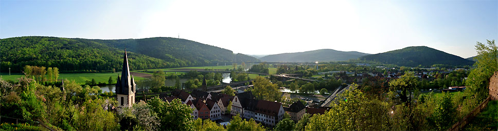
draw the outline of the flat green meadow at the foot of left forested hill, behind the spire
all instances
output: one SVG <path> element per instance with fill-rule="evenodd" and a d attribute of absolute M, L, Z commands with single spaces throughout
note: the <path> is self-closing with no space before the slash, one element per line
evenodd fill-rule
<path fill-rule="evenodd" d="M 16 73 L 12 74 L 11 76 L 8 76 L 8 73 L 2 73 L 2 79 L 4 80 L 13 80 L 17 81 L 18 78 L 21 78 L 22 75 L 21 73 Z M 116 82 L 117 76 L 121 75 L 121 72 L 116 72 L 116 73 L 61 73 L 59 76 L 59 80 L 61 79 L 67 79 L 70 81 L 76 81 L 77 83 L 80 84 L 85 84 L 85 81 L 91 81 L 92 79 L 95 79 L 97 83 L 99 82 L 109 82 L 109 77 L 112 77 L 113 81 Z M 141 77 L 134 77 L 135 80 L 143 80 L 145 78 Z"/>

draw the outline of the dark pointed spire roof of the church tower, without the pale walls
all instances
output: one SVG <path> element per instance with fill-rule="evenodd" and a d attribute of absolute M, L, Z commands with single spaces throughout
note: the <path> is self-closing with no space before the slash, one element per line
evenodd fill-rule
<path fill-rule="evenodd" d="M 130 74 L 130 67 L 128 64 L 128 54 L 126 49 L 124 49 L 123 58 L 123 68 L 121 71 L 121 77 L 118 76 L 118 81 L 116 82 L 116 94 L 130 95 L 136 92 L 136 84 L 133 80 L 133 76 Z"/>

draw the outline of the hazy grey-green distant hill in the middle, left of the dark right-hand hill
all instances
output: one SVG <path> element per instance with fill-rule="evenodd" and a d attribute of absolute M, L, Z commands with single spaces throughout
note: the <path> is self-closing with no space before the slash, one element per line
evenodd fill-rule
<path fill-rule="evenodd" d="M 259 58 L 264 62 L 332 62 L 357 59 L 367 53 L 357 51 L 338 51 L 333 49 L 319 49 L 305 52 L 281 53 L 266 55 Z"/>

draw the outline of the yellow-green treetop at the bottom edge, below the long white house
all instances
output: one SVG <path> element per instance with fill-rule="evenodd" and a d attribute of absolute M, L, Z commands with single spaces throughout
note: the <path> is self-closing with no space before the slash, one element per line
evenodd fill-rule
<path fill-rule="evenodd" d="M 232 117 L 230 124 L 226 126 L 226 130 L 265 130 L 260 124 L 256 123 L 254 119 L 249 121 L 242 120 L 239 114 Z"/>

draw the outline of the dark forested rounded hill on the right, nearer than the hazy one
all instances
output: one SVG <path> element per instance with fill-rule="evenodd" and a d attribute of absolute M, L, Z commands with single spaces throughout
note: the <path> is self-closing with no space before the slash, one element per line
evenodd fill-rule
<path fill-rule="evenodd" d="M 365 55 L 360 60 L 375 61 L 399 66 L 432 66 L 435 64 L 464 66 L 474 62 L 426 46 L 412 46 L 384 53 Z"/>

